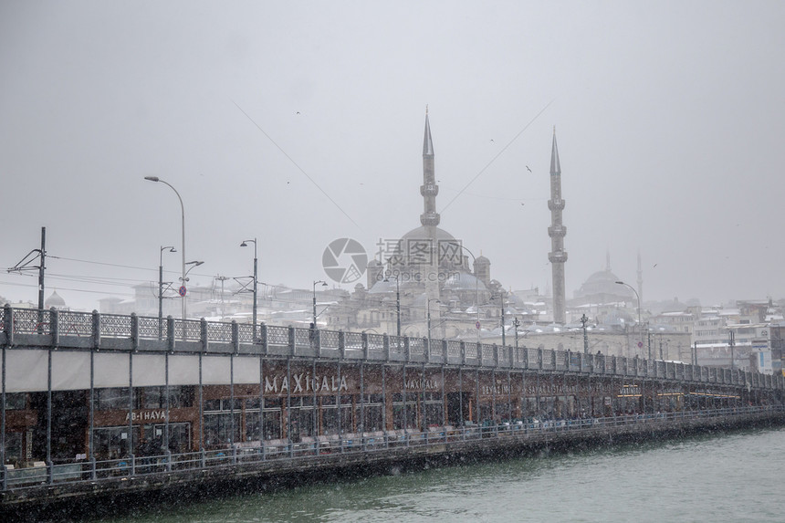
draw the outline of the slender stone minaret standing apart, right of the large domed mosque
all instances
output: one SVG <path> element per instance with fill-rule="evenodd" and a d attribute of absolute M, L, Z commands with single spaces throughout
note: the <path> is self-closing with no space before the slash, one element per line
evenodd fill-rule
<path fill-rule="evenodd" d="M 561 199 L 561 165 L 559 150 L 556 148 L 556 127 L 553 128 L 553 147 L 550 151 L 550 236 L 551 251 L 548 254 L 550 267 L 553 274 L 553 321 L 564 324 L 567 322 L 564 297 L 564 262 L 567 261 L 567 251 L 564 250 L 564 236 L 567 227 L 561 225 L 561 211 L 564 210 L 564 200 Z"/>

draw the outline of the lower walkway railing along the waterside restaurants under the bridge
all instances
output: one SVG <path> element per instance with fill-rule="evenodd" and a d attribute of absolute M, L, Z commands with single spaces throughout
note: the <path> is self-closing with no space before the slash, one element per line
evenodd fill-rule
<path fill-rule="evenodd" d="M 406 447 L 433 447 L 445 450 L 445 445 L 471 445 L 474 441 L 496 439 L 499 444 L 538 441 L 548 434 L 607 434 L 623 431 L 636 425 L 659 425 L 667 428 L 689 420 L 726 419 L 742 416 L 776 414 L 785 412 L 782 407 L 761 406 L 717 409 L 710 411 L 680 411 L 672 413 L 646 413 L 599 418 L 574 419 L 508 419 L 498 424 L 444 425 L 429 427 L 426 431 L 400 429 L 372 433 L 327 434 L 303 437 L 298 441 L 288 439 L 248 441 L 210 449 L 180 454 L 125 455 L 108 460 L 83 459 L 62 463 L 40 463 L 36 466 L 15 469 L 0 465 L 0 492 L 14 491 L 30 497 L 33 491 L 51 491 L 52 486 L 78 486 L 91 484 L 95 492 L 131 478 L 198 472 L 231 465 L 263 464 L 285 461 L 307 464 L 310 461 L 340 461 L 342 455 L 364 453 L 372 457 L 393 449 L 400 454 Z M 455 448 L 460 448 L 456 446 Z"/>

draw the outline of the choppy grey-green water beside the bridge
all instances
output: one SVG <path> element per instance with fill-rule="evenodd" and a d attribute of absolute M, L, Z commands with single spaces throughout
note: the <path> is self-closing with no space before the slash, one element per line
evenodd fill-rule
<path fill-rule="evenodd" d="M 785 429 L 429 469 L 102 521 L 783 521 Z"/>

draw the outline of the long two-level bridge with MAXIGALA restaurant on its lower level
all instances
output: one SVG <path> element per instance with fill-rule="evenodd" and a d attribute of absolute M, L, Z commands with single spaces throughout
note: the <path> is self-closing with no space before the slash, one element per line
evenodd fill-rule
<path fill-rule="evenodd" d="M 782 376 L 266 324 L 0 309 L 2 505 L 780 423 Z"/>

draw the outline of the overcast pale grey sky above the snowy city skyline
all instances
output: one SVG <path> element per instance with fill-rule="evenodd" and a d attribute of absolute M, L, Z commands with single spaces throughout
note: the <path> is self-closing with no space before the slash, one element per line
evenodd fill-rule
<path fill-rule="evenodd" d="M 260 281 L 309 288 L 331 240 L 420 225 L 427 104 L 441 226 L 506 288 L 550 281 L 556 126 L 568 298 L 606 251 L 634 282 L 639 250 L 644 299 L 785 298 L 783 26 L 780 1 L 6 0 L 0 267 L 46 226 L 85 260 L 50 259 L 47 296 L 157 280 L 181 222 L 156 175 L 199 283 L 250 274 L 256 236 Z"/>

